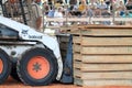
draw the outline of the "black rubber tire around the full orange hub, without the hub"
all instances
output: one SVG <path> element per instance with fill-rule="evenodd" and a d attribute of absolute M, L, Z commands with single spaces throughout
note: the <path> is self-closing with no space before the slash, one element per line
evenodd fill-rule
<path fill-rule="evenodd" d="M 44 56 L 50 63 L 50 73 L 46 75 L 46 77 L 41 79 L 34 79 L 33 77 L 31 77 L 26 69 L 29 61 L 37 55 Z M 54 81 L 57 76 L 58 70 L 57 59 L 55 58 L 53 52 L 46 48 L 35 47 L 24 52 L 24 54 L 22 54 L 21 59 L 18 61 L 16 65 L 18 75 L 21 81 L 23 81 L 25 85 L 46 86 Z"/>

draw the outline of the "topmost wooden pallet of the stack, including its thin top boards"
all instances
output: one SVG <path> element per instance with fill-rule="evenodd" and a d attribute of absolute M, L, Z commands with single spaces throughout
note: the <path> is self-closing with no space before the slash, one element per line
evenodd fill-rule
<path fill-rule="evenodd" d="M 74 35 L 132 36 L 132 26 L 127 25 L 73 25 L 62 26 L 61 30 L 65 33 L 70 33 Z"/>

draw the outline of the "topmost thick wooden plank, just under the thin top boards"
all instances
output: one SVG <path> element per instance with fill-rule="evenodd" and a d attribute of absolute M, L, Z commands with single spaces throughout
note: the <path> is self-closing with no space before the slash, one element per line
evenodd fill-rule
<path fill-rule="evenodd" d="M 114 29 L 87 29 L 81 31 L 82 35 L 91 36 L 132 36 L 132 30 L 114 30 Z"/>

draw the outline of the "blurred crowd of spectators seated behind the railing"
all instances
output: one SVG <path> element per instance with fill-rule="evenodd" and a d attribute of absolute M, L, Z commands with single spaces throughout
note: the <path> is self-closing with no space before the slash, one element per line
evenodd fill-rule
<path fill-rule="evenodd" d="M 129 16 L 132 18 L 132 0 L 70 0 L 42 1 L 38 6 L 50 18 L 67 16 Z"/>

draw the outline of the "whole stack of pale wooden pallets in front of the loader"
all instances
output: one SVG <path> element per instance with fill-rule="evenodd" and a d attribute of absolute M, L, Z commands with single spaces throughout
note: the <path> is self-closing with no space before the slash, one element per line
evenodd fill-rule
<path fill-rule="evenodd" d="M 132 26 L 87 25 L 70 33 L 75 85 L 132 86 Z"/>

